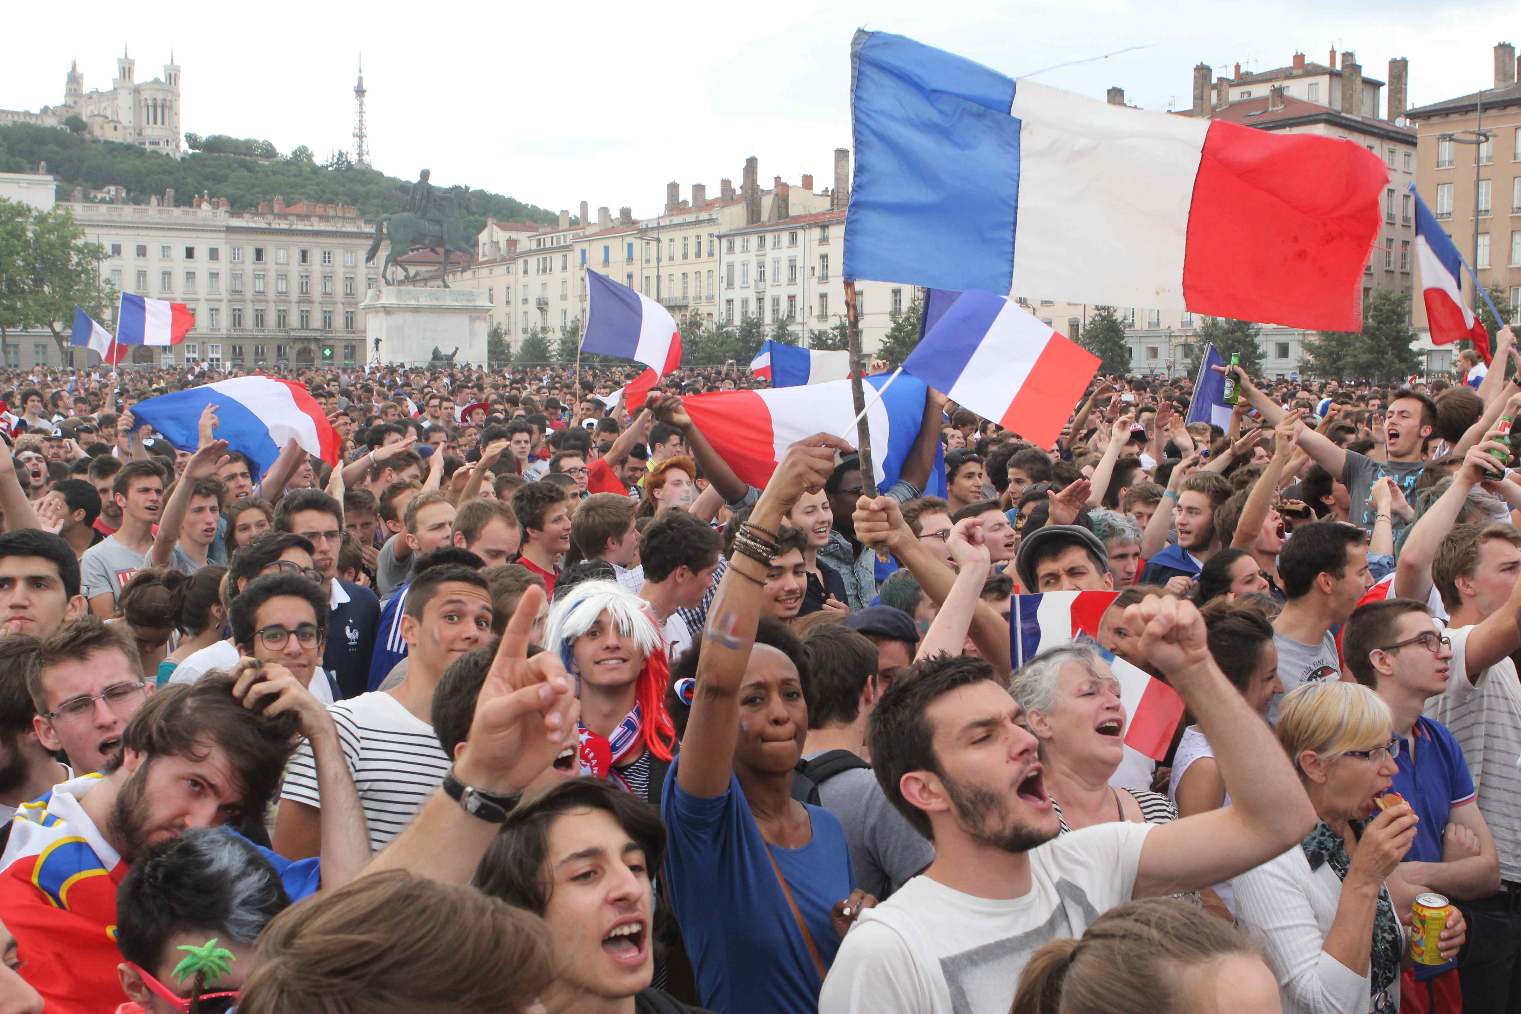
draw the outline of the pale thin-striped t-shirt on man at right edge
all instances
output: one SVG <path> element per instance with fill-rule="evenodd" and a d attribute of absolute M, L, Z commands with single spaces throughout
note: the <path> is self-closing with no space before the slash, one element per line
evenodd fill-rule
<path fill-rule="evenodd" d="M 1484 815 L 1500 853 L 1500 879 L 1521 880 L 1521 687 L 1516 666 L 1501 658 L 1478 680 L 1465 673 L 1468 635 L 1472 626 L 1448 628 L 1453 639 L 1453 678 L 1446 690 L 1430 698 L 1425 716 L 1446 725 L 1463 748 L 1463 760 L 1478 786 L 1478 812 Z"/>

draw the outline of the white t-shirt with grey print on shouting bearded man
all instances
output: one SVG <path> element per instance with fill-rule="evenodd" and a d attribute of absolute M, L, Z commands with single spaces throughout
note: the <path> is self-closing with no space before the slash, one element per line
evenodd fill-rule
<path fill-rule="evenodd" d="M 1030 894 L 1013 900 L 914 877 L 856 920 L 818 1014 L 1008 1014 L 1030 955 L 1130 900 L 1150 830 L 1095 824 L 1031 850 Z"/>

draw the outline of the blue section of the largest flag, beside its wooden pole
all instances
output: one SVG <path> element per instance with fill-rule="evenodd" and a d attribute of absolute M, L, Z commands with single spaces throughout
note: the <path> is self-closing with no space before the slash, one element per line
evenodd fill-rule
<path fill-rule="evenodd" d="M 1015 81 L 885 32 L 856 32 L 850 64 L 856 167 L 844 277 L 1008 292 Z"/>

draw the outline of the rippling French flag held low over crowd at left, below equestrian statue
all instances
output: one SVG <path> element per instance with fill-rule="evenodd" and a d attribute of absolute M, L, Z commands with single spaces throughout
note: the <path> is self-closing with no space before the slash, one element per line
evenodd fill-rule
<path fill-rule="evenodd" d="M 214 404 L 216 438 L 228 450 L 240 450 L 269 471 L 286 441 L 336 465 L 339 438 L 327 412 L 306 388 L 271 377 L 234 377 L 148 398 L 132 406 L 132 417 L 158 430 L 178 450 L 193 452 L 201 442 L 201 410 Z"/>

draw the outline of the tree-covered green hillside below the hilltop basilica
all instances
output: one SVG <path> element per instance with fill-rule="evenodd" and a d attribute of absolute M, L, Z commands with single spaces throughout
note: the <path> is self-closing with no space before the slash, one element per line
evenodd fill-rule
<path fill-rule="evenodd" d="M 376 169 L 353 166 L 338 152 L 318 163 L 304 144 L 281 155 L 269 141 L 234 138 L 213 134 L 201 138 L 186 134 L 192 151 L 184 158 L 149 152 L 135 144 L 99 141 L 73 131 L 12 123 L 0 126 L 0 172 L 37 172 L 47 163 L 47 172 L 59 178 L 58 196 L 67 201 L 75 187 L 100 190 L 108 185 L 126 189 L 129 204 L 148 204 L 175 192 L 175 204 L 189 205 L 202 193 L 227 198 L 234 211 L 254 211 L 262 201 L 284 198 L 286 204 L 313 201 L 316 204 L 348 204 L 367 219 L 394 214 L 406 207 L 406 190 L 412 179 L 388 176 Z M 447 172 L 435 170 L 433 182 L 452 185 Z M 488 217 L 499 222 L 558 220 L 551 211 L 523 204 L 487 190 L 472 190 L 476 214 L 467 219 L 470 234 L 485 228 Z"/>

